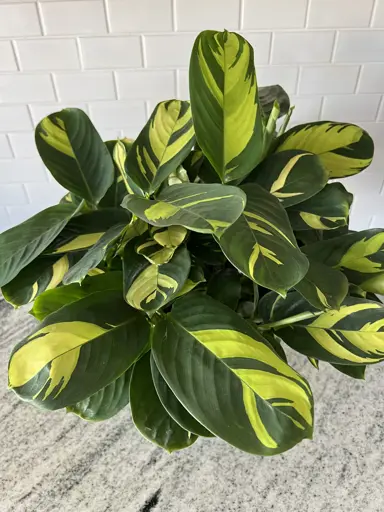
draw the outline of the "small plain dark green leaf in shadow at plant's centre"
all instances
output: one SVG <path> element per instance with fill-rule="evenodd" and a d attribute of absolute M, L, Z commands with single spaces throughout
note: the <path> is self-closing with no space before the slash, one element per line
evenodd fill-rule
<path fill-rule="evenodd" d="M 220 270 L 209 280 L 207 293 L 236 311 L 241 296 L 240 274 L 231 268 Z"/>

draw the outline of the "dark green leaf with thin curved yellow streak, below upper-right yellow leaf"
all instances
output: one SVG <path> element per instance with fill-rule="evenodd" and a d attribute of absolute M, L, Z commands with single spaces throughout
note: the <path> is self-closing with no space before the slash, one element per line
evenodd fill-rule
<path fill-rule="evenodd" d="M 268 190 L 285 208 L 313 196 L 327 181 L 319 157 L 295 149 L 270 155 L 246 179 Z"/>

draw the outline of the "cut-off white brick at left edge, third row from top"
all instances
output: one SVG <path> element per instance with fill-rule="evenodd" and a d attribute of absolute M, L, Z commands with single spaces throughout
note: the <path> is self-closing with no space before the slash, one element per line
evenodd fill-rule
<path fill-rule="evenodd" d="M 28 103 L 55 99 L 51 77 L 45 75 L 12 74 L 0 76 L 0 101 Z"/>

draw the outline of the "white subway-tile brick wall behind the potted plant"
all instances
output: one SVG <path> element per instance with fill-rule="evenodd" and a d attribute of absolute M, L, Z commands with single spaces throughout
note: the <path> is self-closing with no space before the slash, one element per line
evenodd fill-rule
<path fill-rule="evenodd" d="M 198 31 L 240 31 L 261 85 L 280 83 L 295 123 L 356 122 L 372 167 L 346 180 L 352 225 L 384 226 L 384 0 L 0 0 L 0 230 L 61 195 L 33 127 L 67 106 L 105 139 L 136 136 L 161 99 L 188 97 Z"/>

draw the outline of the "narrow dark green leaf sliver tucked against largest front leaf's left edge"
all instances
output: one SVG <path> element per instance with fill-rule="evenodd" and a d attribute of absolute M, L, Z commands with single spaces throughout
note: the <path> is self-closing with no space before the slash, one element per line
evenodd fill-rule
<path fill-rule="evenodd" d="M 153 355 L 151 354 L 151 372 L 152 380 L 156 389 L 156 393 L 167 413 L 188 432 L 192 432 L 198 436 L 213 437 L 213 434 L 209 432 L 201 423 L 199 423 L 193 416 L 189 414 L 187 409 L 181 405 L 178 399 L 175 397 L 171 388 L 165 382 L 161 373 L 159 372 Z"/>

